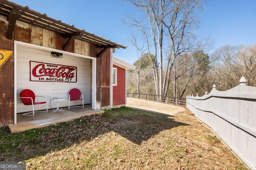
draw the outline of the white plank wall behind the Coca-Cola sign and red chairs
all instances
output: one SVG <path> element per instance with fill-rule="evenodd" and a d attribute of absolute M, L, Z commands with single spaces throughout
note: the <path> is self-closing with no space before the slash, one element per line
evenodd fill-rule
<path fill-rule="evenodd" d="M 53 50 L 54 51 L 54 50 Z M 72 55 L 63 55 L 62 59 L 50 57 L 50 51 L 43 49 L 30 48 L 17 45 L 17 113 L 32 111 L 32 106 L 24 106 L 20 100 L 20 92 L 24 89 L 34 91 L 36 96 L 45 96 L 50 108 L 50 98 L 66 98 L 59 102 L 60 107 L 68 106 L 68 93 L 72 88 L 78 88 L 84 96 L 84 104 L 90 104 L 90 59 L 76 57 Z M 61 64 L 77 67 L 77 82 L 35 82 L 30 81 L 29 61 L 42 63 Z M 42 99 L 42 98 L 41 98 Z M 37 98 L 36 98 L 37 100 Z M 70 105 L 80 105 L 81 101 L 72 101 Z M 52 108 L 56 108 L 56 102 L 51 102 Z M 44 105 L 36 105 L 35 110 L 45 109 Z"/>

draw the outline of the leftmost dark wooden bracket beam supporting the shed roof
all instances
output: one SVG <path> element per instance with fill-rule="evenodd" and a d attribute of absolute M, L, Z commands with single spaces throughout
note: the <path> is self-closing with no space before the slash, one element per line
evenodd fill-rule
<path fill-rule="evenodd" d="M 20 15 L 20 10 L 16 7 L 13 7 L 7 16 L 7 21 L 9 22 L 6 32 L 7 39 L 12 39 L 18 15 Z"/>

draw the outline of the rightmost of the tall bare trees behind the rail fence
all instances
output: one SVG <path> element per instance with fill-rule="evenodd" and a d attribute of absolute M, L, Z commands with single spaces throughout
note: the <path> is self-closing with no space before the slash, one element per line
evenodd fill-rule
<path fill-rule="evenodd" d="M 163 21 L 168 29 L 170 37 L 170 52 L 166 64 L 166 75 L 168 74 L 169 63 L 172 59 L 173 64 L 173 95 L 176 96 L 176 58 L 182 53 L 190 52 L 194 47 L 192 31 L 198 27 L 198 14 L 202 11 L 201 0 L 175 0 L 170 1 L 170 8 L 166 20 Z M 165 76 L 167 77 L 167 76 Z M 164 83 L 168 84 L 168 81 Z M 168 87 L 168 86 L 167 86 Z"/>

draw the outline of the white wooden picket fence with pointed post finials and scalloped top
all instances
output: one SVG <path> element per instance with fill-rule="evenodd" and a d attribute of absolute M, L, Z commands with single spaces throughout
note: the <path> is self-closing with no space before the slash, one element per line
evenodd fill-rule
<path fill-rule="evenodd" d="M 188 95 L 186 107 L 208 125 L 250 168 L 256 170 L 256 87 L 240 85 L 199 97 Z"/>

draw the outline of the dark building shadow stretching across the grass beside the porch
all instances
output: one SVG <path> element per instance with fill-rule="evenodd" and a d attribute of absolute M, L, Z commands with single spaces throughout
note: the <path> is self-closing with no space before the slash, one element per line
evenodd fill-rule
<path fill-rule="evenodd" d="M 188 125 L 173 116 L 121 107 L 21 133 L 0 128 L 0 161 L 21 161 L 114 131 L 140 145 L 163 130 Z"/>

